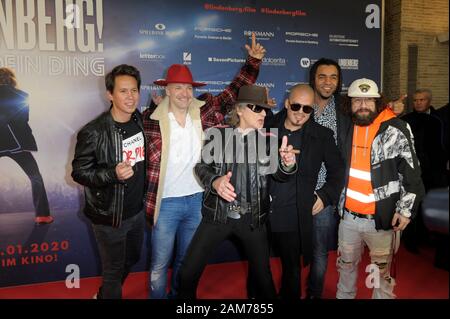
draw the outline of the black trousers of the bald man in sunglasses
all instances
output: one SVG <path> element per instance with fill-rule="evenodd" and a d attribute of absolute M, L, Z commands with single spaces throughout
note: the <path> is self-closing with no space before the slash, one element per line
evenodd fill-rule
<path fill-rule="evenodd" d="M 282 267 L 279 296 L 281 299 L 298 299 L 301 296 L 300 234 L 272 232 L 272 241 Z"/>

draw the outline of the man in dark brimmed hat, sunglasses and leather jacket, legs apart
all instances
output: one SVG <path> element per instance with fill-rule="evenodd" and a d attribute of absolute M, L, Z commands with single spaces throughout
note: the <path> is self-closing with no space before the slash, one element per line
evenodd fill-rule
<path fill-rule="evenodd" d="M 203 219 L 180 269 L 179 298 L 196 297 L 209 255 L 230 236 L 236 236 L 243 244 L 255 276 L 256 297 L 275 297 L 265 223 L 270 205 L 269 183 L 271 178 L 287 180 L 297 167 L 287 138 L 279 150 L 280 162 L 274 152 L 278 149 L 277 137 L 260 131 L 265 109 L 269 108 L 265 88 L 243 86 L 231 112 L 233 128 L 212 128 L 207 132 L 206 139 L 213 138 L 204 146 L 202 162 L 195 167 L 205 187 Z"/>

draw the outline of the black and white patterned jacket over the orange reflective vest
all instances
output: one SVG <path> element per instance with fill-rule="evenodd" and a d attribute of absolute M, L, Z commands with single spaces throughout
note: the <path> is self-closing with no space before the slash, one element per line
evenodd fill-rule
<path fill-rule="evenodd" d="M 351 134 L 352 135 L 352 134 Z M 352 136 L 346 143 L 348 183 Z M 414 218 L 425 194 L 420 166 L 409 125 L 397 117 L 381 123 L 372 141 L 370 173 L 375 196 L 375 228 L 392 229 L 394 213 Z M 341 193 L 338 211 L 345 208 L 347 187 Z"/>

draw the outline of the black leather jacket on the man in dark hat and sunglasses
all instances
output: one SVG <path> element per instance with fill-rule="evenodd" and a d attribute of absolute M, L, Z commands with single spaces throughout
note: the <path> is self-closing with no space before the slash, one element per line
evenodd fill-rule
<path fill-rule="evenodd" d="M 220 138 L 222 139 L 221 152 L 217 155 L 216 149 L 210 149 L 209 147 L 204 147 L 202 150 L 202 161 L 195 166 L 195 173 L 200 180 L 200 183 L 205 187 L 205 194 L 203 197 L 203 207 L 202 214 L 203 219 L 212 223 L 226 223 L 227 214 L 232 210 L 232 206 L 235 203 L 229 203 L 223 198 L 221 198 L 214 188 L 212 187 L 213 181 L 226 175 L 228 172 L 233 171 L 233 162 L 226 161 L 226 151 L 229 150 L 230 143 L 233 143 L 233 135 L 225 134 L 225 130 L 232 130 L 232 128 L 212 128 L 211 130 L 218 130 L 220 132 Z M 208 131 L 207 131 L 208 136 Z M 258 228 L 266 222 L 268 214 L 270 211 L 270 199 L 269 199 L 269 183 L 271 178 L 275 178 L 279 182 L 286 181 L 290 175 L 294 175 L 297 171 L 297 165 L 292 168 L 289 172 L 285 171 L 278 159 L 278 138 L 270 134 L 262 134 L 261 132 L 256 133 L 256 138 L 265 139 L 265 146 L 268 150 L 272 147 L 272 154 L 275 156 L 275 165 L 270 165 L 269 160 L 258 159 L 253 164 L 248 164 L 246 169 L 249 171 L 244 171 L 249 176 L 250 184 L 250 201 L 248 203 L 249 213 L 252 214 L 252 226 Z M 214 140 L 214 139 L 210 139 Z M 272 143 L 271 143 L 272 141 Z M 263 141 L 264 142 L 264 141 Z M 208 143 L 208 137 L 206 142 Z M 256 143 L 259 147 L 261 144 Z M 275 146 L 275 149 L 273 149 Z M 208 154 L 206 154 L 208 152 Z M 210 156 L 209 156 L 210 155 Z M 229 155 L 229 153 L 228 153 Z M 211 163 L 206 163 L 205 160 L 208 158 L 214 158 Z M 273 160 L 273 156 L 270 157 Z M 272 167 L 274 166 L 274 167 Z M 235 193 L 240 194 L 239 185 L 233 185 L 235 187 Z M 238 195 L 239 196 L 239 195 Z"/>

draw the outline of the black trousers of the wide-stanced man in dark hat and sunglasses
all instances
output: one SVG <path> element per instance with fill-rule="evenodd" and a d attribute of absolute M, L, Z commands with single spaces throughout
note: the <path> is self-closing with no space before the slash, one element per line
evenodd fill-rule
<path fill-rule="evenodd" d="M 226 224 L 212 224 L 202 220 L 181 265 L 178 298 L 196 298 L 198 282 L 209 256 L 222 241 L 231 236 L 237 237 L 247 255 L 249 271 L 255 280 L 255 297 L 275 298 L 266 226 L 252 229 L 242 218 L 228 218 Z"/>

